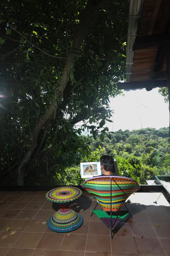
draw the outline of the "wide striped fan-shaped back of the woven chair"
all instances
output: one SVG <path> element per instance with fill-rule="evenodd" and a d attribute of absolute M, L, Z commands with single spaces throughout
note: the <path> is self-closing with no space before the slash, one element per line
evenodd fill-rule
<path fill-rule="evenodd" d="M 140 189 L 132 178 L 114 175 L 88 178 L 82 187 L 93 194 L 104 211 L 112 212 L 119 211 L 126 199 Z"/>

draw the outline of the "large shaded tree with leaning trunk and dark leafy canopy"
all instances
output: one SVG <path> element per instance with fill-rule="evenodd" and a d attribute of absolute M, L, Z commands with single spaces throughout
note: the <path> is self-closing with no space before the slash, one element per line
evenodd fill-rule
<path fill-rule="evenodd" d="M 48 157 L 72 162 L 88 149 L 79 121 L 94 137 L 107 132 L 109 96 L 124 76 L 127 2 L 1 1 L 1 177 L 23 185 Z"/>

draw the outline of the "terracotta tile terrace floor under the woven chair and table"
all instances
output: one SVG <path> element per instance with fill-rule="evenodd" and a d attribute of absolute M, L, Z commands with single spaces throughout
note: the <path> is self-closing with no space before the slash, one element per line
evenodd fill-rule
<path fill-rule="evenodd" d="M 81 227 L 51 231 L 47 220 L 57 207 L 45 194 L 0 191 L 0 256 L 170 256 L 170 207 L 160 192 L 129 197 L 132 217 L 117 226 L 113 240 L 106 225 L 90 216 L 96 200 L 85 191 L 70 206 L 82 215 Z"/>

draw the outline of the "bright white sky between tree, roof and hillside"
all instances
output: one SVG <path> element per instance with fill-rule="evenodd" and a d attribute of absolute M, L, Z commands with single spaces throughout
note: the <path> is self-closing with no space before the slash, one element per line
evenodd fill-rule
<path fill-rule="evenodd" d="M 158 88 L 146 91 L 124 91 L 125 96 L 111 98 L 110 107 L 114 110 L 113 123 L 107 123 L 109 132 L 137 130 L 152 127 L 159 129 L 169 126 L 169 104 L 159 94 Z"/>

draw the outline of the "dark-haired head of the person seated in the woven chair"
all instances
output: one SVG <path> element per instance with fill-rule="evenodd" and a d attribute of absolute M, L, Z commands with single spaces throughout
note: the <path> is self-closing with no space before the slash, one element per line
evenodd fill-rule
<path fill-rule="evenodd" d="M 114 171 L 114 159 L 111 156 L 103 155 L 100 158 L 102 173 L 104 175 L 112 175 Z"/>

